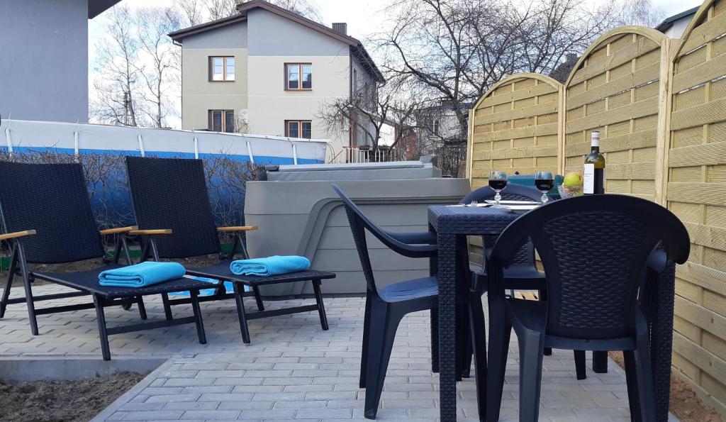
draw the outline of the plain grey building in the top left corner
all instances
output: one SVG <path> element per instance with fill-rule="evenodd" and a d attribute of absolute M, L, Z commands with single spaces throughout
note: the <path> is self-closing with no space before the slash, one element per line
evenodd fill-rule
<path fill-rule="evenodd" d="M 120 0 L 1 0 L 0 115 L 87 122 L 88 20 Z"/>

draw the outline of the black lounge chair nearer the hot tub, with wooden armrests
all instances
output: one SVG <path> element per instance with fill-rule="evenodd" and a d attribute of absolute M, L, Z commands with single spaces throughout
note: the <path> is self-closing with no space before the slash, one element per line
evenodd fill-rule
<path fill-rule="evenodd" d="M 320 285 L 322 280 L 334 278 L 335 273 L 309 270 L 272 277 L 232 274 L 229 264 L 238 247 L 242 249 L 242 259 L 248 258 L 242 234 L 249 230 L 256 230 L 256 227 L 216 227 L 201 160 L 126 157 L 126 174 L 129 177 L 129 189 L 136 223 L 142 229 L 159 231 L 144 238 L 142 260 L 158 261 L 160 259 L 218 255 L 219 264 L 187 269 L 187 274 L 217 281 L 216 293 L 212 296 L 200 297 L 199 301 L 234 299 L 240 318 L 242 341 L 245 344 L 250 343 L 247 321 L 257 318 L 317 310 L 322 329 L 328 329 Z M 171 229 L 171 233 L 164 233 L 163 229 Z M 234 236 L 229 253 L 221 253 L 219 232 L 232 233 Z M 234 293 L 226 292 L 224 281 L 232 282 Z M 272 311 L 264 310 L 259 291 L 261 285 L 298 281 L 311 281 L 316 304 Z M 244 286 L 248 286 L 251 291 L 243 291 Z M 215 286 L 208 284 L 207 287 Z M 242 298 L 247 296 L 255 296 L 259 312 L 248 313 L 245 311 Z M 169 300 L 166 295 L 163 296 L 163 301 L 168 317 L 171 317 L 172 305 L 188 303 L 188 299 Z"/>

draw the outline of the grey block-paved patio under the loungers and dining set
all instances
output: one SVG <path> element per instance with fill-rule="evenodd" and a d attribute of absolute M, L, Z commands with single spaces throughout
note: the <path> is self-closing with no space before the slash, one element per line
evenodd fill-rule
<path fill-rule="evenodd" d="M 62 290 L 43 285 L 34 293 Z M 13 289 L 12 294 L 17 293 L 20 289 Z M 83 298 L 73 301 L 80 303 Z M 147 298 L 146 304 L 150 320 L 163 318 L 160 298 Z M 290 302 L 266 304 L 274 309 Z M 325 299 L 325 306 L 330 330 L 320 328 L 317 312 L 253 320 L 250 346 L 242 344 L 233 301 L 203 304 L 205 345 L 197 343 L 194 325 L 112 336 L 115 360 L 168 360 L 94 421 L 363 421 L 365 393 L 358 388 L 358 373 L 364 300 Z M 254 309 L 252 301 L 248 309 Z M 135 311 L 135 307 L 110 308 L 106 317 L 109 325 L 134 322 Z M 182 305 L 175 307 L 175 313 L 187 315 L 191 309 Z M 0 359 L 100 360 L 93 310 L 38 317 L 38 324 L 41 335 L 31 336 L 25 306 L 10 307 L 0 320 Z M 437 420 L 438 376 L 431 373 L 428 338 L 427 313 L 409 315 L 401 322 L 380 420 Z M 517 420 L 515 357 L 510 353 L 502 421 Z M 459 384 L 457 403 L 461 421 L 478 421 L 473 378 Z M 588 368 L 587 380 L 577 381 L 571 352 L 555 351 L 544 359 L 541 406 L 544 421 L 629 421 L 624 373 L 610 362 L 609 373 L 595 374 Z"/>

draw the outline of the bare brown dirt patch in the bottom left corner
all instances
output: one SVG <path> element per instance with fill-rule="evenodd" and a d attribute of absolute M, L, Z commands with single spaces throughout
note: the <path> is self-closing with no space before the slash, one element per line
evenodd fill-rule
<path fill-rule="evenodd" d="M 90 421 L 144 376 L 116 373 L 81 381 L 0 384 L 0 421 Z"/>

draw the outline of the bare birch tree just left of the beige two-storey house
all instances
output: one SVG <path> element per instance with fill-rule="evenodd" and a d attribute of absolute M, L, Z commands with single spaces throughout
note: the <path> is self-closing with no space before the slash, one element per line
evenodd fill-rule
<path fill-rule="evenodd" d="M 139 44 L 147 60 L 136 66 L 144 83 L 142 95 L 150 105 L 144 113 L 156 127 L 164 127 L 163 120 L 169 113 L 169 84 L 174 81 L 171 73 L 178 71 L 177 49 L 166 34 L 179 29 L 180 20 L 176 9 L 150 7 L 139 11 Z"/>

